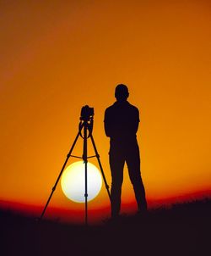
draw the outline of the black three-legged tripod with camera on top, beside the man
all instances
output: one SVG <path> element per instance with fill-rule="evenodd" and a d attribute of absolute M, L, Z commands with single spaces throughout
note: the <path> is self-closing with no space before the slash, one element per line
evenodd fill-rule
<path fill-rule="evenodd" d="M 62 170 L 60 171 L 60 173 L 59 173 L 59 175 L 57 177 L 57 181 L 55 182 L 54 186 L 52 187 L 51 194 L 50 194 L 50 196 L 49 196 L 49 198 L 47 199 L 47 202 L 46 202 L 46 206 L 45 206 L 45 208 L 43 209 L 43 211 L 41 213 L 40 220 L 42 219 L 43 215 L 46 212 L 46 208 L 47 208 L 48 204 L 51 201 L 51 197 L 53 195 L 53 192 L 56 190 L 57 183 L 60 180 L 60 178 L 62 176 L 62 172 L 65 169 L 65 166 L 68 163 L 68 159 L 70 157 L 78 158 L 78 159 L 83 159 L 84 160 L 84 169 L 85 169 L 85 192 L 84 192 L 84 197 L 85 197 L 85 224 L 88 225 L 88 200 L 87 200 L 88 199 L 88 187 L 87 187 L 88 177 L 87 177 L 87 164 L 88 164 L 88 159 L 89 158 L 94 158 L 94 157 L 97 158 L 98 164 L 100 166 L 100 172 L 101 172 L 101 175 L 103 177 L 103 181 L 104 181 L 105 186 L 106 186 L 106 191 L 108 193 L 108 197 L 109 197 L 110 202 L 111 202 L 111 194 L 109 192 L 109 186 L 107 184 L 106 176 L 104 174 L 104 171 L 103 171 L 103 168 L 102 168 L 102 164 L 100 162 L 100 155 L 97 152 L 97 148 L 95 146 L 95 141 L 94 141 L 94 138 L 92 136 L 93 124 L 94 124 L 94 120 L 93 120 L 93 118 L 94 118 L 94 109 L 93 109 L 93 113 L 92 114 L 83 114 L 83 109 L 87 108 L 87 107 L 89 108 L 89 106 L 85 106 L 85 107 L 82 108 L 80 122 L 79 122 L 79 125 L 78 125 L 78 134 L 77 134 L 77 136 L 76 136 L 76 138 L 75 138 L 75 140 L 73 142 L 72 147 L 70 148 L 70 151 L 69 151 L 69 153 L 67 155 L 67 158 L 66 158 L 64 164 L 62 165 Z M 84 134 L 82 134 L 83 130 L 84 130 L 84 132 L 83 132 Z M 72 155 L 73 148 L 75 147 L 75 144 L 78 141 L 78 137 L 79 136 L 81 136 L 83 138 L 83 140 L 84 140 L 83 156 L 82 157 L 78 157 L 78 156 Z M 91 139 L 92 145 L 93 145 L 94 150 L 95 150 L 95 155 L 94 156 L 90 156 L 90 157 L 87 156 L 87 140 L 88 140 L 89 137 Z"/>

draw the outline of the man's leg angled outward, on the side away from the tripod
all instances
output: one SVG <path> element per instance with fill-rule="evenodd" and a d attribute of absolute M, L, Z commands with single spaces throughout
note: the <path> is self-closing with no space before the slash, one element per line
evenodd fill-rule
<path fill-rule="evenodd" d="M 135 192 L 136 201 L 138 204 L 138 211 L 143 212 L 147 210 L 147 201 L 145 197 L 145 189 L 140 171 L 140 155 L 138 144 L 130 148 L 127 153 L 127 168 L 130 176 L 130 180 L 133 184 L 133 190 Z"/>

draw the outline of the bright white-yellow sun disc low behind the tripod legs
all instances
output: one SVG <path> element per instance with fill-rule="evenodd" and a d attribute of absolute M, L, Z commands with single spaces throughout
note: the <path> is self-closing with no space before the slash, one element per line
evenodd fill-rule
<path fill-rule="evenodd" d="M 85 202 L 85 164 L 83 161 L 70 164 L 62 174 L 62 192 L 76 203 Z M 87 164 L 87 201 L 94 199 L 100 192 L 102 178 L 94 164 Z"/>

